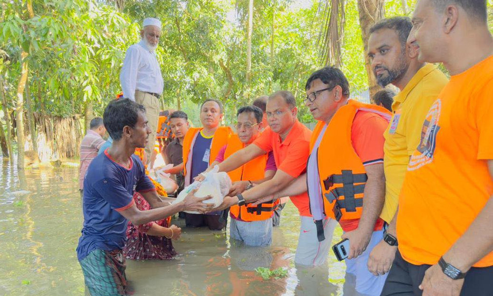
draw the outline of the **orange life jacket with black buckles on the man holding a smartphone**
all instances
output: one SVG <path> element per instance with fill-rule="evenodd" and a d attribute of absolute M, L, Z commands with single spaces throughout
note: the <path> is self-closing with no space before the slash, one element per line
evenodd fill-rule
<path fill-rule="evenodd" d="M 323 213 L 337 221 L 359 219 L 363 209 L 363 191 L 368 177 L 351 140 L 352 122 L 358 111 L 375 112 L 390 119 L 390 112 L 382 107 L 349 100 L 330 120 L 316 152 Z M 319 121 L 315 126 L 310 150 L 313 150 L 324 125 Z M 312 202 L 313 198 L 316 197 L 310 196 L 312 213 L 317 204 Z M 314 219 L 317 223 L 317 218 Z"/>

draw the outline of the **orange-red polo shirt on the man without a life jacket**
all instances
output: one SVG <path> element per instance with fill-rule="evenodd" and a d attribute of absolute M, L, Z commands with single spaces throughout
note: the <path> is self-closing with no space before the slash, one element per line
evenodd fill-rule
<path fill-rule="evenodd" d="M 253 142 L 265 152 L 273 151 L 278 170 L 293 178 L 306 172 L 308 156 L 310 155 L 310 138 L 312 131 L 303 123 L 296 120 L 284 141 L 279 134 L 270 127 Z M 290 196 L 293 204 L 298 208 L 300 216 L 312 217 L 308 193 Z"/>

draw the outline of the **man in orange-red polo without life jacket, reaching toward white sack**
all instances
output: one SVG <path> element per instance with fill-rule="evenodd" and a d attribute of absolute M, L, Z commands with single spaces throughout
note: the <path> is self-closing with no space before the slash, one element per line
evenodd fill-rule
<path fill-rule="evenodd" d="M 237 196 L 225 197 L 219 209 L 235 204 L 242 205 L 245 202 L 253 203 L 263 197 L 268 197 L 280 191 L 306 171 L 312 131 L 298 121 L 296 117 L 298 109 L 293 94 L 288 91 L 278 91 L 272 94 L 267 101 L 266 113 L 269 127 L 253 142 L 253 145 L 233 153 L 221 162 L 219 170 L 232 171 L 255 157 L 273 151 L 277 166 L 276 174 L 271 180 L 254 186 Z M 317 229 L 310 214 L 306 190 L 291 195 L 290 199 L 298 208 L 301 217 L 300 235 L 294 260 L 301 265 L 321 265 L 327 259 L 336 223 L 330 219 L 324 221 L 323 229 L 328 239 L 318 242 Z"/>

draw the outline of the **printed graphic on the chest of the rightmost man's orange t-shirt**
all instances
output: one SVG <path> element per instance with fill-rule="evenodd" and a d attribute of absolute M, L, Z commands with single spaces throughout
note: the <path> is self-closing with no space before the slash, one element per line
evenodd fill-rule
<path fill-rule="evenodd" d="M 424 119 L 423 129 L 421 130 L 421 142 L 418 148 L 414 151 L 409 165 L 408 171 L 414 171 L 433 161 L 433 154 L 436 148 L 436 136 L 440 130 L 438 120 L 442 110 L 442 101 L 436 100 L 431 106 L 426 118 Z"/>

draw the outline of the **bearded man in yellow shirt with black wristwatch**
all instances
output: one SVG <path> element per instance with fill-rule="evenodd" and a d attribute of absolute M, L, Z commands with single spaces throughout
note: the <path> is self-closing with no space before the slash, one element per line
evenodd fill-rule
<path fill-rule="evenodd" d="M 418 46 L 407 43 L 413 25 L 408 17 L 387 18 L 370 29 L 368 55 L 378 83 L 400 89 L 392 104 L 392 119 L 384 133 L 385 203 L 382 218 L 390 224 L 372 250 L 368 269 L 385 274 L 397 251 L 395 222 L 397 200 L 409 157 L 418 147 L 424 117 L 448 79 L 436 66 L 418 61 Z"/>

